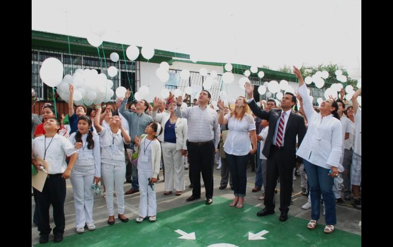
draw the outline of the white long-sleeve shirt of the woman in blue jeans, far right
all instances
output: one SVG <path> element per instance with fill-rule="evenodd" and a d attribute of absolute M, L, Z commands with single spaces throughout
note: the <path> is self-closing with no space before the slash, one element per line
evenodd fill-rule
<path fill-rule="evenodd" d="M 340 164 L 342 130 L 340 120 L 333 115 L 322 118 L 312 107 L 306 84 L 299 87 L 298 92 L 303 98 L 303 109 L 308 120 L 308 129 L 296 154 L 303 159 L 326 169 L 337 167 L 339 172 L 344 169 Z"/>

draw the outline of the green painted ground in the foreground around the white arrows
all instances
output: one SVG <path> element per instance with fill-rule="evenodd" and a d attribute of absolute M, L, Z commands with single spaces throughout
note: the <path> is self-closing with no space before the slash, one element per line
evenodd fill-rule
<path fill-rule="evenodd" d="M 185 206 L 159 212 L 154 223 L 145 219 L 136 223 L 130 219 L 122 223 L 117 219 L 112 226 L 85 229 L 83 234 L 64 237 L 53 242 L 53 235 L 45 246 L 208 246 L 228 243 L 237 246 L 361 246 L 361 236 L 335 229 L 325 234 L 325 225 L 307 229 L 308 221 L 289 216 L 280 222 L 279 213 L 257 217 L 260 207 L 245 204 L 242 209 L 229 207 L 230 200 L 214 197 L 213 204 L 201 200 Z M 195 232 L 195 240 L 179 239 L 175 230 Z M 249 232 L 268 231 L 264 240 L 248 240 Z M 43 244 L 36 244 L 39 246 Z"/>

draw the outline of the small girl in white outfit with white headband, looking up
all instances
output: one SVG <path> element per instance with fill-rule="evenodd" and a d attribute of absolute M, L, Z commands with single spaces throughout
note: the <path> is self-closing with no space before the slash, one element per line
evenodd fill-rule
<path fill-rule="evenodd" d="M 162 128 L 159 123 L 150 123 L 144 130 L 147 135 L 141 139 L 135 136 L 135 152 L 138 152 L 138 181 L 140 190 L 139 217 L 142 222 L 146 216 L 149 221 L 156 221 L 157 201 L 154 183 L 160 172 L 161 145 L 157 136 Z"/>

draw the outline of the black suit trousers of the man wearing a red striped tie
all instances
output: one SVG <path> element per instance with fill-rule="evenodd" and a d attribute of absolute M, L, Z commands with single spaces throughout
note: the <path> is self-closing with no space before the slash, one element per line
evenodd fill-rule
<path fill-rule="evenodd" d="M 292 197 L 293 184 L 293 168 L 296 159 L 293 159 L 292 164 L 288 164 L 288 157 L 284 154 L 283 149 L 278 149 L 276 146 L 270 148 L 269 156 L 267 157 L 266 167 L 266 190 L 264 205 L 267 211 L 274 211 L 275 204 L 274 190 L 276 188 L 277 178 L 280 176 L 280 211 L 288 212 L 290 200 Z"/>

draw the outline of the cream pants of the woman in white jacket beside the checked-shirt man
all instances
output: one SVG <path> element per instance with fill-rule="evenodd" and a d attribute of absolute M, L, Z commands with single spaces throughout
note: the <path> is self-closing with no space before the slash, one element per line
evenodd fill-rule
<path fill-rule="evenodd" d="M 183 155 L 181 150 L 176 150 L 175 143 L 161 143 L 162 155 L 165 163 L 165 191 L 182 191 L 184 186 Z"/>

